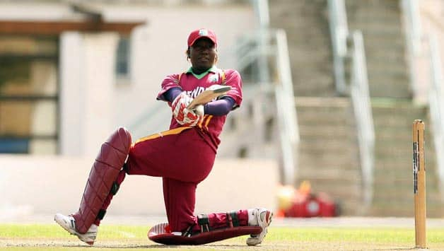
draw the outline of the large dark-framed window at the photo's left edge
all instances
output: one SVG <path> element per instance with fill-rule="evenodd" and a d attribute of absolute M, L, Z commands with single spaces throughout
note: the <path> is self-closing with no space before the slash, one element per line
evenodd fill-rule
<path fill-rule="evenodd" d="M 57 153 L 58 49 L 58 37 L 0 37 L 0 153 Z"/>

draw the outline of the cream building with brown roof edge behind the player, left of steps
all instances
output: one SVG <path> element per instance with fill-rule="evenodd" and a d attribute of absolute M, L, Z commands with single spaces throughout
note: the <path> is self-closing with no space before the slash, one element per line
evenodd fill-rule
<path fill-rule="evenodd" d="M 204 2 L 1 1 L 0 152 L 93 155 L 118 126 L 168 129 L 166 115 L 138 121 L 168 110 L 156 94 L 189 67 L 189 32 L 215 30 L 219 66 L 235 68 L 236 39 L 255 28 L 249 4 Z"/>

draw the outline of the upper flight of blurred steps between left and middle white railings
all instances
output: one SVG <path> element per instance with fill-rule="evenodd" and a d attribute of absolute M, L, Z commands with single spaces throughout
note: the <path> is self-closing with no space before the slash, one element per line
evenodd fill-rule
<path fill-rule="evenodd" d="M 270 25 L 287 33 L 296 96 L 335 96 L 327 0 L 270 1 Z"/>

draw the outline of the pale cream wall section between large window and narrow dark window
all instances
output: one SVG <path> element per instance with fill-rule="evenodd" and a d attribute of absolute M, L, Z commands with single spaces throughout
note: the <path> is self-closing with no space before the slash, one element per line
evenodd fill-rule
<path fill-rule="evenodd" d="M 61 36 L 60 146 L 64 155 L 92 156 L 115 129 L 117 41 L 117 33 Z"/>

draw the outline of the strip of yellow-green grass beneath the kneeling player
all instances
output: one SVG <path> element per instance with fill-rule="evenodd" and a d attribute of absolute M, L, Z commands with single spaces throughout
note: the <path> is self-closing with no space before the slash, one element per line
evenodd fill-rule
<path fill-rule="evenodd" d="M 146 237 L 147 226 L 100 226 L 93 247 L 56 225 L 0 224 L 0 250 L 409 250 L 413 228 L 270 227 L 260 247 L 247 247 L 246 236 L 201 246 L 164 246 Z M 444 226 L 427 231 L 428 247 L 444 250 Z"/>

